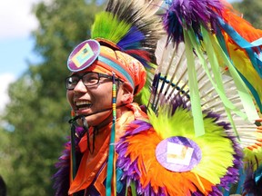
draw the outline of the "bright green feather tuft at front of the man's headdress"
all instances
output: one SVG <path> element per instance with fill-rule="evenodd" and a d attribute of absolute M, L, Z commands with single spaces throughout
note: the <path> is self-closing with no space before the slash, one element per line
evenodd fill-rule
<path fill-rule="evenodd" d="M 96 15 L 91 30 L 92 39 L 103 38 L 117 44 L 129 31 L 131 25 L 119 19 L 112 13 L 102 12 Z"/>

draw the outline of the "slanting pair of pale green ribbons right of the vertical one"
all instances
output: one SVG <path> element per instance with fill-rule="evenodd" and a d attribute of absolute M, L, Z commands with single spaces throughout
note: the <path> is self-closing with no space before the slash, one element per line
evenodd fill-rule
<path fill-rule="evenodd" d="M 188 29 L 188 31 L 186 32 L 188 34 L 188 37 L 185 37 L 185 40 L 186 42 L 188 42 L 188 38 L 189 38 L 190 44 L 192 44 L 192 46 L 194 47 L 196 54 L 199 58 L 200 64 L 202 64 L 205 72 L 207 73 L 207 77 L 210 83 L 212 83 L 222 103 L 224 104 L 225 111 L 227 113 L 227 118 L 229 122 L 231 123 L 232 128 L 236 132 L 237 137 L 238 137 L 237 128 L 236 128 L 235 122 L 233 121 L 231 112 L 236 113 L 238 116 L 240 116 L 244 120 L 249 119 L 249 121 L 252 121 L 252 120 L 254 121 L 255 119 L 258 118 L 256 107 L 253 103 L 253 100 L 250 94 L 248 93 L 247 86 L 241 80 L 239 74 L 237 73 L 237 70 L 235 69 L 233 64 L 229 61 L 229 59 L 227 58 L 227 55 L 224 53 L 220 45 L 217 43 L 217 40 L 214 39 L 214 37 L 211 34 L 209 34 L 203 26 L 201 26 L 201 31 L 204 37 L 203 39 L 204 44 L 207 49 L 207 57 L 211 65 L 211 69 L 214 74 L 215 80 L 211 76 L 211 73 L 208 69 L 204 54 L 201 51 L 199 43 L 196 42 L 196 36 L 192 29 Z M 236 84 L 237 92 L 239 94 L 241 102 L 243 103 L 244 110 L 246 113 L 241 112 L 240 109 L 238 109 L 237 106 L 234 105 L 232 102 L 230 102 L 230 100 L 227 98 L 227 95 L 225 93 L 225 88 L 223 85 L 222 75 L 220 72 L 220 67 L 219 67 L 218 60 L 217 60 L 216 51 L 220 54 L 219 56 L 222 56 L 223 60 L 227 63 L 228 70 Z"/>

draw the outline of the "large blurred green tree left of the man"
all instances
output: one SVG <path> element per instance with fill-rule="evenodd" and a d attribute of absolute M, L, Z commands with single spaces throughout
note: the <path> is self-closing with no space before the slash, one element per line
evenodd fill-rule
<path fill-rule="evenodd" d="M 0 175 L 10 196 L 54 195 L 54 164 L 70 130 L 66 60 L 76 44 L 90 37 L 101 9 L 95 0 L 53 0 L 34 7 L 39 21 L 33 32 L 35 53 L 42 61 L 30 64 L 10 85 L 11 102 L 0 129 Z"/>

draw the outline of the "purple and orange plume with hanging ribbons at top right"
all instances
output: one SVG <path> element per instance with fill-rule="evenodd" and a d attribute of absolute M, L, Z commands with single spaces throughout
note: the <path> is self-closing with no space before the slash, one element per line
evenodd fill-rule
<path fill-rule="evenodd" d="M 209 60 L 210 49 L 213 48 L 214 53 L 211 54 L 219 57 L 214 59 L 217 60 L 217 65 L 227 67 L 229 72 L 233 68 L 237 69 L 237 76 L 231 73 L 233 79 L 238 84 L 239 80 L 245 84 L 247 90 L 243 93 L 253 95 L 261 113 L 262 31 L 237 15 L 237 11 L 223 0 L 169 0 L 166 5 L 163 18 L 167 42 L 176 45 L 184 42 L 195 50 L 196 45 L 201 46 Z M 238 91 L 242 91 L 242 87 L 238 86 Z M 242 96 L 245 105 L 247 96 Z M 249 113 L 250 119 L 251 116 Z"/>

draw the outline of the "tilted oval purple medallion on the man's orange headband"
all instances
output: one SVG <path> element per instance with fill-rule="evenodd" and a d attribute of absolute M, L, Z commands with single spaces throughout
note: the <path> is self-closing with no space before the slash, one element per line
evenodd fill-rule
<path fill-rule="evenodd" d="M 69 55 L 67 67 L 71 72 L 79 72 L 93 64 L 100 54 L 100 44 L 96 40 L 86 40 L 78 44 Z"/>

